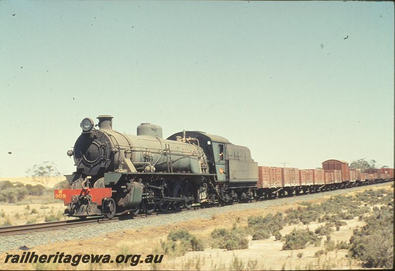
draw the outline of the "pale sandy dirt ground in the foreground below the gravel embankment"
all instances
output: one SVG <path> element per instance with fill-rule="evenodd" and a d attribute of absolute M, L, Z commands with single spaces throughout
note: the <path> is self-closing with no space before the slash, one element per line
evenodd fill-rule
<path fill-rule="evenodd" d="M 375 187 L 374 185 L 361 187 L 357 191 L 367 189 L 393 189 L 391 183 L 388 185 Z M 351 195 L 356 192 L 344 191 L 344 194 Z M 165 240 L 168 232 L 172 229 L 183 228 L 195 234 L 201 239 L 207 238 L 214 228 L 225 227 L 231 228 L 237 222 L 237 226 L 246 226 L 249 216 L 267 215 L 268 213 L 284 212 L 289 208 L 297 208 L 301 202 L 318 203 L 325 201 L 330 196 L 314 200 L 301 200 L 295 204 L 284 204 L 282 206 L 273 206 L 270 209 L 256 209 L 247 211 L 229 212 L 213 216 L 211 220 L 194 220 L 180 223 L 174 226 L 145 227 L 139 230 L 118 230 L 111 232 L 106 236 L 100 236 L 84 240 L 72 240 L 62 244 L 49 244 L 36 246 L 32 251 L 37 254 L 54 254 L 56 251 L 63 251 L 70 254 L 111 254 L 113 257 L 118 254 L 142 254 L 144 257 L 153 253 L 154 249 L 159 246 L 160 240 Z M 341 226 L 339 231 L 331 234 L 332 240 L 349 241 L 353 230 L 363 226 L 364 222 L 357 219 L 348 220 L 347 226 Z M 320 223 L 307 225 L 311 230 L 320 226 Z M 280 233 L 285 235 L 294 227 L 306 227 L 306 225 L 284 226 Z M 326 240 L 322 238 L 322 244 Z M 250 240 L 248 249 L 225 251 L 223 249 L 207 248 L 199 252 L 187 252 L 181 257 L 163 258 L 157 270 L 232 270 L 230 266 L 235 258 L 243 262 L 243 269 L 250 270 L 305 270 L 305 269 L 360 269 L 360 265 L 355 260 L 346 258 L 347 250 L 337 250 L 329 252 L 327 255 L 315 257 L 315 253 L 323 248 L 307 247 L 303 250 L 287 251 L 281 250 L 281 241 L 276 241 L 272 236 L 266 240 Z M 9 254 L 21 254 L 21 250 L 8 251 Z M 298 253 L 303 253 L 298 259 Z M 4 254 L 5 255 L 5 254 Z M 73 269 L 73 270 L 150 270 L 153 268 L 150 264 L 139 264 L 131 267 L 129 264 L 80 264 L 72 267 L 66 264 L 3 264 L 4 255 L 0 255 L 0 269 Z M 249 261 L 250 260 L 250 261 Z M 256 261 L 256 262 L 255 262 Z"/>

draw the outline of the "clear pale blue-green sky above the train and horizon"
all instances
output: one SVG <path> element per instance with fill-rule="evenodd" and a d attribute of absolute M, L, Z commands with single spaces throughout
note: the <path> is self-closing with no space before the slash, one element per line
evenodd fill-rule
<path fill-rule="evenodd" d="M 260 165 L 393 167 L 394 4 L 1 0 L 0 177 L 72 173 L 101 114 L 222 135 Z"/>

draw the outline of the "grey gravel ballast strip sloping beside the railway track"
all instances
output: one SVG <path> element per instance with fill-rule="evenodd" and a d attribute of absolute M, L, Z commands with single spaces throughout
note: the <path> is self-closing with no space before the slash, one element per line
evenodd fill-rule
<path fill-rule="evenodd" d="M 384 186 L 384 185 L 388 185 L 388 182 L 374 184 L 372 186 Z M 323 193 L 294 196 L 290 198 L 263 200 L 249 204 L 235 204 L 235 205 L 224 206 L 224 207 L 197 209 L 194 211 L 171 213 L 171 214 L 160 215 L 160 216 L 156 216 L 154 214 L 147 218 L 136 219 L 136 220 L 123 220 L 113 223 L 94 224 L 94 225 L 90 224 L 90 225 L 73 227 L 73 228 L 40 231 L 35 233 L 26 233 L 19 235 L 0 236 L 0 244 L 1 244 L 0 253 L 11 249 L 17 249 L 19 246 L 23 246 L 23 245 L 32 248 L 37 245 L 43 245 L 53 242 L 62 242 L 76 238 L 86 239 L 89 237 L 96 237 L 98 235 L 104 235 L 108 232 L 112 232 L 120 229 L 155 227 L 155 226 L 163 226 L 166 224 L 170 224 L 170 225 L 177 224 L 179 222 L 195 220 L 195 219 L 211 219 L 213 215 L 217 215 L 221 213 L 242 211 L 247 209 L 270 208 L 271 206 L 279 206 L 279 205 L 283 205 L 284 203 L 290 204 L 301 200 L 321 198 L 324 195 L 329 195 L 329 196 L 339 195 L 354 190 L 358 190 L 363 187 L 369 187 L 369 186 L 333 190 Z"/>

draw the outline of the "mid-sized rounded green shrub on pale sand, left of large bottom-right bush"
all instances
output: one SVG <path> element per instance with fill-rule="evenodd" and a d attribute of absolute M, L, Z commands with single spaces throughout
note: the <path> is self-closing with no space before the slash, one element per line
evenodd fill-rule
<path fill-rule="evenodd" d="M 304 249 L 307 244 L 315 244 L 322 237 L 318 237 L 309 229 L 293 229 L 291 233 L 285 235 L 283 250 Z"/>

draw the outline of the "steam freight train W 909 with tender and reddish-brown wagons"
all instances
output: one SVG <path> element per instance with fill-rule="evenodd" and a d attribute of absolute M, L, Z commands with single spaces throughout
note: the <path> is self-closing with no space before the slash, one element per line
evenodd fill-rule
<path fill-rule="evenodd" d="M 125 135 L 113 130 L 112 116 L 97 119 L 96 126 L 81 121 L 67 151 L 77 167 L 66 175 L 70 189 L 54 191 L 68 216 L 149 215 L 394 179 L 394 169 L 365 174 L 339 160 L 312 170 L 258 166 L 247 147 L 219 135 L 184 130 L 163 139 L 162 128 L 149 123 Z"/>

